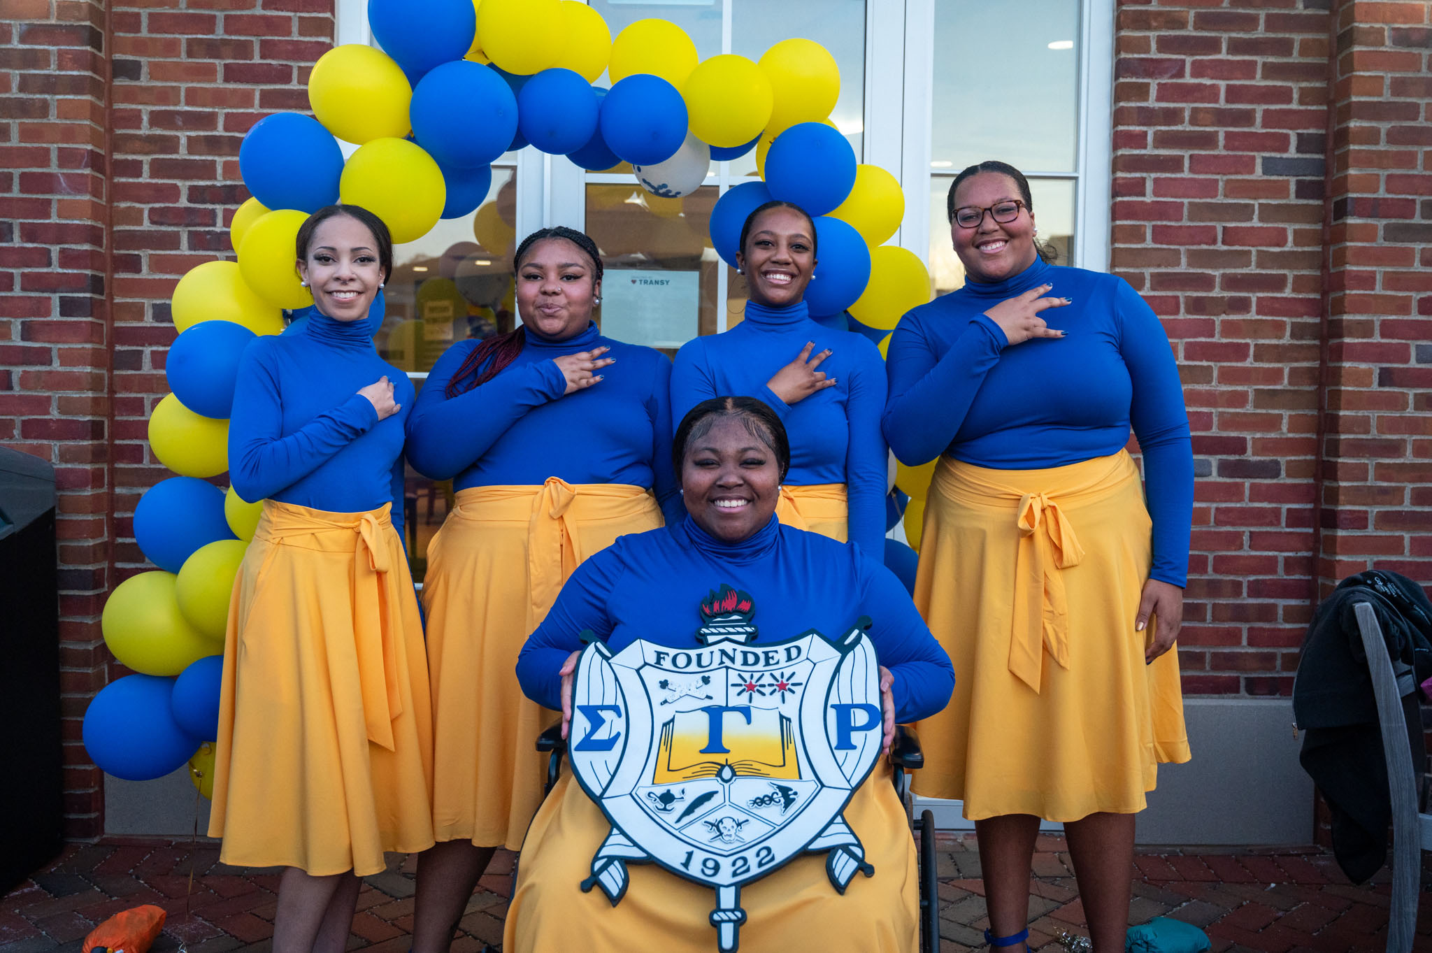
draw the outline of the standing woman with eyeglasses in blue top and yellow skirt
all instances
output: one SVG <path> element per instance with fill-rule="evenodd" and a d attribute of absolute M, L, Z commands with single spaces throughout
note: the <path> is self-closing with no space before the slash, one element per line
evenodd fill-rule
<path fill-rule="evenodd" d="M 885 436 L 939 459 L 915 604 L 961 673 L 915 791 L 975 821 L 994 947 L 1028 936 L 1040 820 L 1063 821 L 1097 953 L 1124 949 L 1134 814 L 1189 760 L 1177 654 L 1193 451 L 1169 338 L 1121 279 L 1050 263 L 1030 185 L 949 189 L 964 288 L 891 339 Z M 1124 451 L 1138 438 L 1147 494 Z"/>

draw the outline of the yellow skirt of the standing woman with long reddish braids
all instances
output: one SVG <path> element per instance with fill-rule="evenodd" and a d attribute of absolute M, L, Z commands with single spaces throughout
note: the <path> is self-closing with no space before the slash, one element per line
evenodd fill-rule
<path fill-rule="evenodd" d="M 652 494 L 624 484 L 471 487 L 428 544 L 422 607 L 432 684 L 437 840 L 521 847 L 557 720 L 517 684 L 517 653 L 583 559 L 662 525 Z"/>

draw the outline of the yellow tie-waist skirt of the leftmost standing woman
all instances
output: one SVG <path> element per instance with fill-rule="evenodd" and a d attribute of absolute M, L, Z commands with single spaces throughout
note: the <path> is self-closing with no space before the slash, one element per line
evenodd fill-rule
<path fill-rule="evenodd" d="M 432 711 L 388 519 L 263 502 L 223 642 L 209 836 L 241 867 L 384 869 L 432 846 Z"/>

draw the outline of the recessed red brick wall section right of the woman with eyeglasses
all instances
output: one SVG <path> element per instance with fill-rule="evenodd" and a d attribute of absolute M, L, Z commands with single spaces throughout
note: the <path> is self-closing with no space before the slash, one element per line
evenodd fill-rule
<path fill-rule="evenodd" d="M 1118 6 L 1113 269 L 1174 342 L 1197 465 L 1189 693 L 1289 694 L 1309 620 L 1329 13 Z"/>

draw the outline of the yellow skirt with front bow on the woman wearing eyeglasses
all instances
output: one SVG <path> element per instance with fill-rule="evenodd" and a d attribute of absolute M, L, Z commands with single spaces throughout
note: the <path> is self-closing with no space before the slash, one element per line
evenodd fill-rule
<path fill-rule="evenodd" d="M 1128 454 L 1001 471 L 944 458 L 915 605 L 949 653 L 949 705 L 919 723 L 914 790 L 965 817 L 1071 821 L 1146 806 L 1189 760 L 1179 655 L 1134 631 L 1151 522 Z"/>

